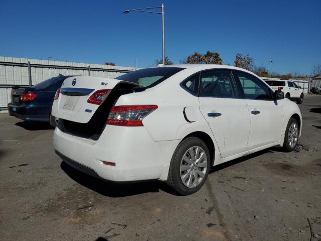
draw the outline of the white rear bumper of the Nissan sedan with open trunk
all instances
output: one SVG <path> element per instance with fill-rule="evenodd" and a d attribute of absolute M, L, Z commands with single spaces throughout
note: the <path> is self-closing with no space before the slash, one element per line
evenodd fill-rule
<path fill-rule="evenodd" d="M 106 129 L 98 141 L 93 141 L 56 128 L 56 153 L 70 166 L 109 181 L 167 180 L 179 140 L 155 142 L 144 127 L 107 125 Z M 115 166 L 103 162 L 112 162 Z"/>

